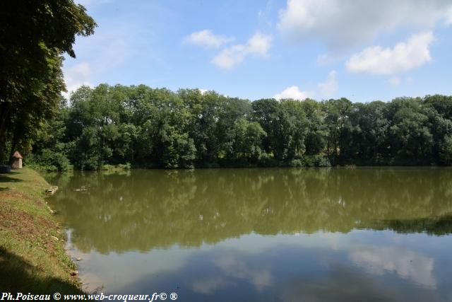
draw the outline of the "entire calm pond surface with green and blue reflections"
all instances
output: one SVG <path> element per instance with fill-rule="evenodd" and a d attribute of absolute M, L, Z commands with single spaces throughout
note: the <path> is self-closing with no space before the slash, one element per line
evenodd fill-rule
<path fill-rule="evenodd" d="M 452 169 L 47 175 L 88 291 L 452 301 Z M 167 301 L 170 301 L 169 298 Z"/>

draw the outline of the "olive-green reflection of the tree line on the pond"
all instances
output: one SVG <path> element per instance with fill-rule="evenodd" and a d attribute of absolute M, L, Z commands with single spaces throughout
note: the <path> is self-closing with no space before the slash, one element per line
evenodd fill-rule
<path fill-rule="evenodd" d="M 200 246 L 259 234 L 355 228 L 448 234 L 449 169 L 133 170 L 73 173 L 49 202 L 83 251 Z M 81 190 L 83 188 L 83 190 Z"/>

